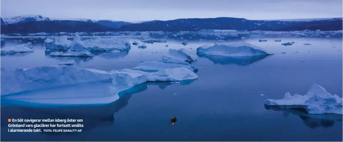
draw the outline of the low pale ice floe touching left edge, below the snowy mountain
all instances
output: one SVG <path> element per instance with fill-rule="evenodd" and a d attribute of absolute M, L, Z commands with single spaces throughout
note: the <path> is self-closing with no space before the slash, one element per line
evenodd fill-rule
<path fill-rule="evenodd" d="M 14 55 L 14 54 L 20 54 L 20 53 L 27 53 L 27 52 L 33 52 L 32 50 L 33 46 L 31 42 L 27 42 L 25 44 L 21 45 L 15 45 L 15 46 L 6 46 L 4 48 L 1 48 L 1 55 Z"/>

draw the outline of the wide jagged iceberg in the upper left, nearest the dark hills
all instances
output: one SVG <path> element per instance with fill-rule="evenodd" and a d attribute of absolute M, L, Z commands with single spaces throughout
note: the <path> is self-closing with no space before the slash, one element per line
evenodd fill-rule
<path fill-rule="evenodd" d="M 73 41 L 69 41 L 67 36 L 55 39 L 46 39 L 44 46 L 49 50 L 72 50 L 72 51 L 113 51 L 129 50 L 130 43 L 119 38 L 101 38 L 81 41 L 79 35 L 75 35 Z"/>

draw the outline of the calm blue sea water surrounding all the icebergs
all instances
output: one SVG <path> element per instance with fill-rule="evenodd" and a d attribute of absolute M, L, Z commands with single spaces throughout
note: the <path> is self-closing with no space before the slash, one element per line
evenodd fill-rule
<path fill-rule="evenodd" d="M 342 97 L 342 39 L 261 39 L 267 42 L 245 42 L 273 56 L 242 60 L 201 57 L 193 62 L 199 68 L 199 79 L 183 84 L 141 84 L 122 92 L 119 100 L 108 105 L 29 106 L 1 99 L 1 141 L 342 141 L 342 116 L 309 115 L 263 104 L 266 99 L 282 98 L 286 92 L 305 94 L 313 83 Z M 274 41 L 279 39 L 282 41 Z M 132 46 L 128 54 L 91 59 L 51 58 L 44 52 L 43 39 L 6 39 L 2 47 L 26 41 L 35 41 L 35 52 L 2 56 L 1 67 L 32 68 L 75 61 L 75 66 L 109 71 L 161 60 L 169 48 L 195 53 L 200 45 L 215 42 L 189 41 L 184 46 L 169 40 L 146 44 L 146 49 Z M 281 45 L 290 41 L 295 44 Z M 111 82 L 98 82 L 13 97 L 51 101 L 76 94 L 91 98 L 109 95 L 110 86 Z M 178 119 L 174 125 L 172 117 Z M 9 133 L 8 118 L 84 119 L 85 127 L 80 133 Z"/>

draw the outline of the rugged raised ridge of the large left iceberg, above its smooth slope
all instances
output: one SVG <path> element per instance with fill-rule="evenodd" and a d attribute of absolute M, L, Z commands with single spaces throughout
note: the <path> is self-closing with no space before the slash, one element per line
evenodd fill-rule
<path fill-rule="evenodd" d="M 1 95 L 71 84 L 111 80 L 110 73 L 70 65 L 49 65 L 31 69 L 1 68 Z"/>

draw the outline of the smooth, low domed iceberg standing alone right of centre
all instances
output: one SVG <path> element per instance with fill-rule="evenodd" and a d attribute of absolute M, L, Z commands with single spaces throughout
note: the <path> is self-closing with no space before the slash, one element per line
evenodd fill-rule
<path fill-rule="evenodd" d="M 220 43 L 212 46 L 204 45 L 196 49 L 198 55 L 207 56 L 230 56 L 230 57 L 244 57 L 244 56 L 259 56 L 271 55 L 264 49 L 255 45 L 238 42 L 238 43 Z"/>

